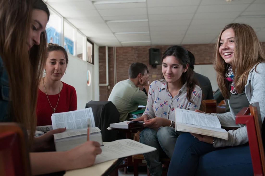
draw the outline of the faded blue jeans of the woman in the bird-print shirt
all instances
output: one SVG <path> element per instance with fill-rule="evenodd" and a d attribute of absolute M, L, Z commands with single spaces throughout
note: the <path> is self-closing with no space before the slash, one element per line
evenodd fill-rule
<path fill-rule="evenodd" d="M 160 156 L 171 158 L 178 133 L 172 127 L 160 127 L 157 129 L 145 128 L 140 133 L 139 142 L 148 146 L 156 147 L 153 152 L 145 153 L 144 158 L 147 161 L 147 167 L 152 176 L 162 175 L 162 163 Z"/>

